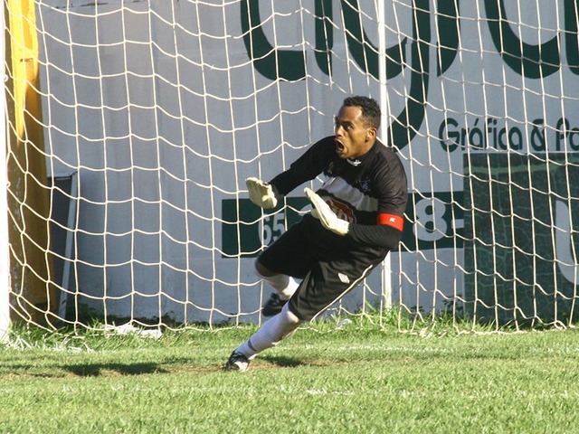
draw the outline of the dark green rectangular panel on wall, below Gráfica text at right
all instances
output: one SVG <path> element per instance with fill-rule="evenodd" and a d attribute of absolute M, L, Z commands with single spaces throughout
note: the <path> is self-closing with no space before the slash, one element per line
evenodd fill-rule
<path fill-rule="evenodd" d="M 577 308 L 579 154 L 470 154 L 464 168 L 466 312 L 565 318 Z"/>

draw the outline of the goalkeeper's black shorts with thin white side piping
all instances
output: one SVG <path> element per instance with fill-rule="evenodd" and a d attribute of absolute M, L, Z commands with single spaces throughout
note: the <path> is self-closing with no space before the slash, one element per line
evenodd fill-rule
<path fill-rule="evenodd" d="M 386 253 L 356 246 L 307 214 L 264 250 L 258 261 L 271 271 L 302 279 L 289 309 L 299 319 L 310 321 L 356 288 Z"/>

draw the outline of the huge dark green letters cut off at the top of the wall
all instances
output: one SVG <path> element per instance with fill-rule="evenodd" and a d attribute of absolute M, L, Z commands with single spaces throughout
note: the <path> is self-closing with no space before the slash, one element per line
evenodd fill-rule
<path fill-rule="evenodd" d="M 357 0 L 341 0 L 342 15 L 346 29 L 346 44 L 353 61 L 379 80 L 379 62 L 385 61 L 385 79 L 400 75 L 407 65 L 407 38 L 385 50 L 379 56 L 362 25 L 361 10 Z M 534 45 L 521 41 L 511 29 L 507 19 L 504 0 L 485 0 L 489 33 L 503 61 L 517 74 L 530 79 L 545 79 L 559 71 L 561 58 L 560 41 L 555 36 Z M 306 78 L 306 52 L 274 48 L 263 32 L 259 0 L 242 0 L 241 23 L 243 42 L 253 65 L 270 80 L 304 80 Z M 422 127 L 424 110 L 428 100 L 431 13 L 429 0 L 413 0 L 413 42 L 411 45 L 410 87 L 403 111 L 388 128 L 387 137 L 398 149 L 407 146 Z M 577 42 L 577 16 L 579 0 L 564 0 L 565 54 L 569 70 L 579 74 L 579 42 Z M 437 23 L 437 76 L 451 68 L 456 59 L 460 40 L 459 0 L 439 0 L 436 3 Z M 331 0 L 320 0 L 315 5 L 315 59 L 318 67 L 327 75 L 332 70 L 333 6 Z M 500 137 L 504 138 L 504 137 Z M 514 137 L 517 138 L 517 137 Z"/>

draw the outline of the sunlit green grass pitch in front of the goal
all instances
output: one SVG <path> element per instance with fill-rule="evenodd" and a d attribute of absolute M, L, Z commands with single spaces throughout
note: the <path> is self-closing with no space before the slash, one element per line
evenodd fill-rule
<path fill-rule="evenodd" d="M 253 330 L 15 338 L 0 346 L 0 432 L 579 432 L 574 329 L 304 329 L 222 372 Z"/>

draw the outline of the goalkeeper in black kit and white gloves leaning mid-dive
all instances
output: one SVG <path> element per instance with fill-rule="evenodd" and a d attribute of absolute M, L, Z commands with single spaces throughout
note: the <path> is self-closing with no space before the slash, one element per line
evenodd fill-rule
<path fill-rule="evenodd" d="M 398 246 L 408 187 L 401 160 L 376 138 L 380 118 L 375 99 L 346 98 L 335 136 L 310 146 L 269 184 L 247 179 L 252 203 L 266 209 L 319 174 L 327 181 L 317 192 L 305 189 L 312 212 L 255 261 L 275 289 L 261 311 L 272 317 L 233 351 L 225 370 L 247 371 L 257 354 L 355 288 Z"/>

